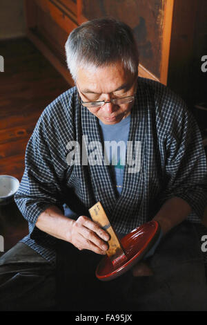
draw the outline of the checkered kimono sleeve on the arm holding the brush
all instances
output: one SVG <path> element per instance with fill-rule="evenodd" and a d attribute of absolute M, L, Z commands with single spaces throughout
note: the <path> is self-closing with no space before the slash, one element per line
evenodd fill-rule
<path fill-rule="evenodd" d="M 52 139 L 57 146 L 57 139 Z M 47 138 L 47 130 L 43 119 L 34 128 L 28 141 L 25 154 L 25 170 L 14 201 L 29 223 L 30 233 L 41 212 L 50 205 L 56 205 L 63 212 L 61 202 L 61 181 L 55 171 L 54 155 Z M 57 157 L 58 159 L 58 157 Z M 56 161 L 59 164 L 61 162 Z"/>

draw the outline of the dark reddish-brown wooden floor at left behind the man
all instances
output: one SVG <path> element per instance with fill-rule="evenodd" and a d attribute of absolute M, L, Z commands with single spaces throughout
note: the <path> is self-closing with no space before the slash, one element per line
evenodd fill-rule
<path fill-rule="evenodd" d="M 26 38 L 1 41 L 0 55 L 0 174 L 21 181 L 26 145 L 41 112 L 70 85 Z M 15 203 L 0 206 L 5 252 L 27 233 Z"/>

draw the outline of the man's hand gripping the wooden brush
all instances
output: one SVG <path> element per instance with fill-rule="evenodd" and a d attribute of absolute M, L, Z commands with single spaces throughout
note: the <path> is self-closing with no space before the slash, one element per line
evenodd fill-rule
<path fill-rule="evenodd" d="M 87 216 L 79 216 L 72 223 L 70 243 L 79 250 L 92 250 L 97 254 L 106 254 L 109 234 Z"/>

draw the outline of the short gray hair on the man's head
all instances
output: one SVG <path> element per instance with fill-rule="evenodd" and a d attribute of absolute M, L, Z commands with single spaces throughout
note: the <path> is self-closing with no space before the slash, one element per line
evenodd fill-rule
<path fill-rule="evenodd" d="M 116 19 L 106 17 L 81 24 L 70 32 L 65 49 L 68 69 L 75 81 L 77 68 L 115 62 L 122 62 L 130 73 L 138 73 L 139 53 L 132 29 Z"/>

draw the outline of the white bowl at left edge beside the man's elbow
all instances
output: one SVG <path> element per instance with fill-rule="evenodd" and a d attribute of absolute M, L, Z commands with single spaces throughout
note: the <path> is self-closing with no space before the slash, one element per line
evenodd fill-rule
<path fill-rule="evenodd" d="M 0 175 L 0 205 L 10 203 L 19 189 L 19 180 L 13 176 Z"/>

